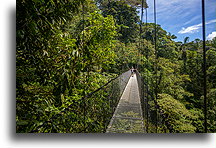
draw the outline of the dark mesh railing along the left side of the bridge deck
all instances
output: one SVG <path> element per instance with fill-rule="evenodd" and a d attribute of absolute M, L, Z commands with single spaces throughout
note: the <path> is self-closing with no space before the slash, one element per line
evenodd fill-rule
<path fill-rule="evenodd" d="M 128 83 L 128 70 L 99 89 L 70 104 L 31 132 L 42 133 L 103 133 L 113 116 Z"/>

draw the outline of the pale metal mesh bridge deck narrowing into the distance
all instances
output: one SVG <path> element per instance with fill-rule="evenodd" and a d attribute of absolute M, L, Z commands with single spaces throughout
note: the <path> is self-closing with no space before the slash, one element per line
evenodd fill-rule
<path fill-rule="evenodd" d="M 107 133 L 144 133 L 137 76 L 130 77 L 108 125 Z"/>

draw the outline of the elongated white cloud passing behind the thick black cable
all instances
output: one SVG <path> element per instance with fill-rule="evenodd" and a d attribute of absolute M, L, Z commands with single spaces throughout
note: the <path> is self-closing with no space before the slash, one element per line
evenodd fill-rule
<path fill-rule="evenodd" d="M 214 20 L 210 20 L 208 22 L 206 22 L 206 25 L 208 24 L 212 24 L 212 23 L 216 23 L 216 19 Z M 198 32 L 199 29 L 202 27 L 202 24 L 197 24 L 197 25 L 193 25 L 193 26 L 189 26 L 187 28 L 182 28 L 178 33 L 179 34 L 184 34 L 184 33 L 195 33 L 195 32 Z"/>

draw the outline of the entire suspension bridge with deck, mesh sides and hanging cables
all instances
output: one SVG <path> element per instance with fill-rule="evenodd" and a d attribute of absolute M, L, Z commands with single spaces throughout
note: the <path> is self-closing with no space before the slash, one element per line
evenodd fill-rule
<path fill-rule="evenodd" d="M 140 36 L 142 33 L 143 22 L 143 4 L 141 9 L 141 23 L 140 23 Z M 155 23 L 155 50 L 157 52 L 157 27 L 156 27 L 156 2 L 154 0 L 154 23 Z M 203 24 L 203 61 L 204 61 L 204 126 L 207 132 L 207 110 L 206 110 L 206 49 L 205 49 L 205 9 L 204 0 L 202 0 L 202 24 Z M 83 15 L 84 16 L 84 15 Z M 147 16 L 147 9 L 146 9 Z M 146 17 L 147 23 L 147 17 Z M 83 26 L 84 27 L 84 26 Z M 156 53 L 157 54 L 157 53 Z M 108 83 L 99 89 L 82 97 L 82 103 L 77 107 L 76 115 L 82 117 L 79 121 L 79 126 L 82 133 L 100 132 L 100 133 L 158 133 L 158 132 L 171 132 L 169 125 L 166 123 L 163 112 L 157 105 L 157 101 L 152 94 L 149 94 L 148 85 L 138 71 L 134 75 L 131 70 L 128 70 L 116 78 L 110 80 Z M 88 103 L 88 105 L 86 105 Z M 100 108 L 98 104 L 104 105 Z M 31 132 L 41 132 L 43 127 L 44 131 L 50 123 L 55 120 L 65 120 L 64 113 L 70 113 L 73 104 L 52 116 L 49 121 L 43 122 Z M 70 120 L 70 119 L 68 119 Z M 103 123 L 99 125 L 98 123 Z M 61 126 L 52 127 L 56 130 Z M 102 127 L 102 128 L 101 128 Z M 71 128 L 70 125 L 64 128 Z M 42 131 L 42 132 L 44 132 Z M 51 131 L 52 132 L 52 131 Z"/>

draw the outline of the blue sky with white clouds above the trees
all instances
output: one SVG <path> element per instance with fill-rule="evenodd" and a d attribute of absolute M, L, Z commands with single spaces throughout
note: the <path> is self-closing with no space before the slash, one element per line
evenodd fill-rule
<path fill-rule="evenodd" d="M 153 0 L 147 3 L 148 22 L 153 22 Z M 205 5 L 206 38 L 210 40 L 216 36 L 216 0 L 205 0 Z M 183 41 L 185 37 L 190 37 L 190 41 L 202 39 L 201 6 L 201 0 L 156 0 L 157 24 L 176 35 L 176 41 Z"/>

